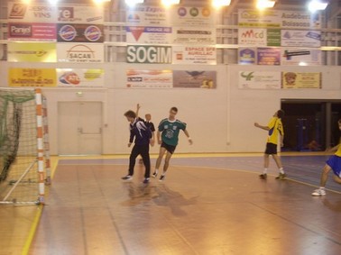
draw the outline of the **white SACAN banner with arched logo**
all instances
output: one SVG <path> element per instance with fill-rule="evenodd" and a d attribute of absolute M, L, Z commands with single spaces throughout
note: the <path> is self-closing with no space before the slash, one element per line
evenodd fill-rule
<path fill-rule="evenodd" d="M 103 63 L 103 43 L 73 43 L 57 44 L 58 62 L 69 63 Z"/>

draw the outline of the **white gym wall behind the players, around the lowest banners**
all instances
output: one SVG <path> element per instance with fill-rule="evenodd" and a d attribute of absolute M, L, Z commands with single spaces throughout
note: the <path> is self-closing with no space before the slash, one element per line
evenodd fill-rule
<path fill-rule="evenodd" d="M 30 63 L 30 65 L 32 65 Z M 51 67 L 50 67 L 51 66 Z M 1 87 L 7 87 L 8 67 L 23 68 L 27 63 L 0 65 L 3 77 Z M 35 68 L 55 68 L 53 65 L 34 63 Z M 63 68 L 60 64 L 59 68 Z M 69 65 L 69 68 L 83 68 Z M 90 67 L 93 68 L 93 67 Z M 266 133 L 253 127 L 254 122 L 266 124 L 281 106 L 281 98 L 340 99 L 341 72 L 339 67 L 263 67 L 263 66 L 176 66 L 177 70 L 217 70 L 217 89 L 171 88 L 136 89 L 125 87 L 125 70 L 167 69 L 171 65 L 132 65 L 126 63 L 104 64 L 106 85 L 103 88 L 43 88 L 48 99 L 51 154 L 58 152 L 58 102 L 101 101 L 103 111 L 103 153 L 121 154 L 130 151 L 126 144 L 129 138 L 128 123 L 124 112 L 135 110 L 140 103 L 141 116 L 151 113 L 157 125 L 168 116 L 171 106 L 177 106 L 177 117 L 188 124 L 194 144 L 189 146 L 185 135 L 180 135 L 177 152 L 253 152 L 263 151 Z M 322 72 L 322 89 L 260 90 L 238 89 L 238 72 L 241 70 L 274 70 Z M 83 91 L 84 96 L 76 96 Z M 156 153 L 158 146 L 151 152 Z"/>

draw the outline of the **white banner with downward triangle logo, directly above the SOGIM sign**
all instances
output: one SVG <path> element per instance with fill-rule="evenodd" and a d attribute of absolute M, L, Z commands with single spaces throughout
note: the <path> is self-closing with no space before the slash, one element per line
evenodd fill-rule
<path fill-rule="evenodd" d="M 171 27 L 127 26 L 126 42 L 144 44 L 171 44 Z"/>

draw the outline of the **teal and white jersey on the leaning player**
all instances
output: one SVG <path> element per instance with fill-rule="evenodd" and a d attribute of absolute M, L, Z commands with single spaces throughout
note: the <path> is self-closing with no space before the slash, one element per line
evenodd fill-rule
<path fill-rule="evenodd" d="M 158 129 L 164 143 L 176 146 L 179 141 L 179 132 L 180 130 L 186 130 L 186 123 L 182 123 L 180 120 L 170 121 L 169 119 L 163 119 Z"/>

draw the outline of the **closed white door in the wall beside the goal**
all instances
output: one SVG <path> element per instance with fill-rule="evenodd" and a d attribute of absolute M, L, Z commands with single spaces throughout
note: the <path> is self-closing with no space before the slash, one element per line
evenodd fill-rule
<path fill-rule="evenodd" d="M 58 105 L 60 155 L 102 153 L 102 103 L 60 102 Z"/>

